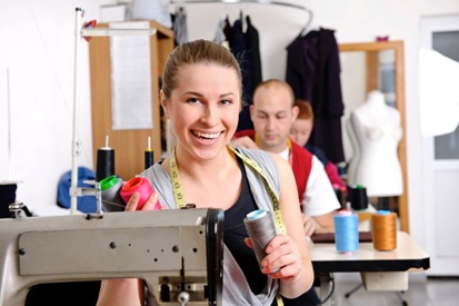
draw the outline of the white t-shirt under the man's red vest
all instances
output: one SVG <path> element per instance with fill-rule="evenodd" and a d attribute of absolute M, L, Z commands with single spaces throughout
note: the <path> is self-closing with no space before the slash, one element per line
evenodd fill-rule
<path fill-rule="evenodd" d="M 289 148 L 279 152 L 283 159 L 289 158 Z M 312 155 L 311 172 L 302 196 L 303 214 L 311 217 L 326 215 L 341 207 L 327 176 L 323 164 Z"/>

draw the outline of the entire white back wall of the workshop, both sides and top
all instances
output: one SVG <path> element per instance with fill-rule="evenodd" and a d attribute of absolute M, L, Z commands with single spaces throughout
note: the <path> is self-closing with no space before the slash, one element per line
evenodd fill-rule
<path fill-rule="evenodd" d="M 288 0 L 285 0 L 288 1 Z M 7 69 L 10 71 L 12 157 L 10 179 L 23 182 L 18 199 L 31 209 L 56 204 L 60 176 L 71 168 L 74 8 L 97 19 L 99 6 L 113 1 L 0 0 L 0 181 L 8 179 Z M 419 18 L 459 12 L 457 0 L 290 0 L 313 11 L 313 27 L 336 29 L 342 42 L 373 41 L 377 36 L 403 40 L 410 229 L 422 244 L 425 205 L 422 138 L 419 127 Z M 275 6 L 188 4 L 190 38 L 212 39 L 218 20 L 239 11 L 260 32 L 263 77 L 283 78 L 286 47 L 306 24 L 306 12 Z M 84 46 L 86 42 L 82 45 Z M 79 165 L 92 168 L 91 115 L 87 49 L 81 52 Z"/>

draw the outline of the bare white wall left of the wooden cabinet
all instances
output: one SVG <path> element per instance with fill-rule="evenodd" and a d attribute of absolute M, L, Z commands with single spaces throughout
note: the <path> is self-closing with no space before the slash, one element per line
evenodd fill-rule
<path fill-rule="evenodd" d="M 71 169 L 74 12 L 97 19 L 114 1 L 7 1 L 0 10 L 0 181 L 19 180 L 29 209 L 56 206 L 60 177 Z M 81 48 L 80 166 L 92 168 L 88 48 Z M 9 71 L 11 156 L 8 166 Z"/>

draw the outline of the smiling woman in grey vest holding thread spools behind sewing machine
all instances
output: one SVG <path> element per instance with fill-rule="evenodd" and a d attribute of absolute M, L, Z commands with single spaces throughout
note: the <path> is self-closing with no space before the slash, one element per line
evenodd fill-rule
<path fill-rule="evenodd" d="M 241 95 L 239 63 L 224 47 L 197 40 L 171 52 L 163 70 L 161 106 L 176 145 L 168 158 L 140 174 L 156 190 L 141 210 L 152 210 L 157 200 L 168 209 L 193 204 L 224 210 L 224 282 L 218 304 L 270 306 L 277 299 L 280 305 L 285 298 L 301 298 L 311 287 L 312 266 L 289 164 L 261 150 L 228 146 L 238 125 Z M 138 205 L 134 194 L 126 210 Z M 270 217 L 278 229 L 260 266 L 243 226 L 246 215 L 257 209 L 273 211 Z M 110 279 L 102 282 L 98 305 L 143 305 L 146 298 L 161 295 L 144 296 L 138 279 Z"/>

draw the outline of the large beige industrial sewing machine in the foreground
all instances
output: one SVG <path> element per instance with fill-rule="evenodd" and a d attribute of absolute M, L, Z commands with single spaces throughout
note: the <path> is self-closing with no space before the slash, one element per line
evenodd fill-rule
<path fill-rule="evenodd" d="M 0 306 L 47 283 L 142 278 L 158 305 L 221 305 L 223 213 L 0 219 Z"/>

